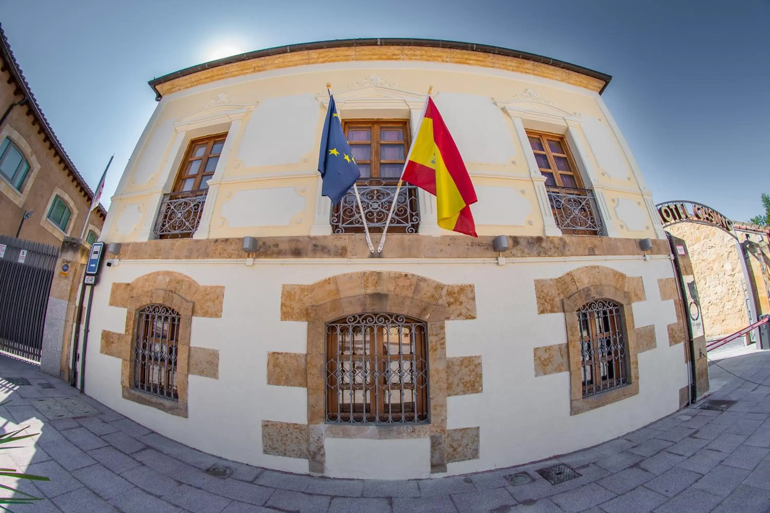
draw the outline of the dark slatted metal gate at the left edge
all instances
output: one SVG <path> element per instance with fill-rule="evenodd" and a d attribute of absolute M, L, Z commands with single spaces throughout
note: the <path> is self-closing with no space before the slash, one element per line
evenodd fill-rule
<path fill-rule="evenodd" d="M 0 351 L 40 361 L 59 248 L 0 235 Z"/>

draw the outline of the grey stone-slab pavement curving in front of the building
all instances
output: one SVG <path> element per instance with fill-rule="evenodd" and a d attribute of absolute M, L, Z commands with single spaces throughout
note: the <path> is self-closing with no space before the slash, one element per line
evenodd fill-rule
<path fill-rule="evenodd" d="M 450 478 L 362 481 L 223 461 L 136 424 L 32 365 L 0 357 L 0 395 L 8 401 L 0 406 L 2 427 L 42 431 L 34 445 L 0 452 L 0 467 L 51 478 L 34 485 L 21 481 L 22 490 L 45 501 L 15 506 L 16 513 L 768 511 L 770 352 L 720 363 L 765 385 L 712 365 L 712 381 L 721 388 L 709 399 L 738 401 L 724 412 L 685 408 L 621 438 L 537 464 Z M 15 378 L 29 385 L 13 384 Z M 233 474 L 204 472 L 218 463 Z M 559 463 L 581 477 L 551 485 L 536 472 Z M 514 486 L 504 477 L 522 471 L 534 481 Z"/>

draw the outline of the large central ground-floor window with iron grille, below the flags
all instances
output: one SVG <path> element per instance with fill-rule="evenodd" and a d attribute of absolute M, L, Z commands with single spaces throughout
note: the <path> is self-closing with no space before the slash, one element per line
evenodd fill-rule
<path fill-rule="evenodd" d="M 427 325 L 404 315 L 349 315 L 326 324 L 326 421 L 427 422 Z"/>

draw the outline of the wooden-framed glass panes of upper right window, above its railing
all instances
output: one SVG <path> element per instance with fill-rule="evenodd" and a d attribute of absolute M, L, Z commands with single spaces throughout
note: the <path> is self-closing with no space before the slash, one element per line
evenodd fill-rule
<path fill-rule="evenodd" d="M 527 138 L 534 152 L 537 168 L 545 177 L 545 185 L 583 188 L 570 148 L 563 136 L 527 130 Z"/>

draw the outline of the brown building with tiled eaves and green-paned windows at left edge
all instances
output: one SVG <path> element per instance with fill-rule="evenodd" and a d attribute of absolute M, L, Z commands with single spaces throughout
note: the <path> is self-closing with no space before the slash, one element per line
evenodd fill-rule
<path fill-rule="evenodd" d="M 28 311 L 0 319 L 0 338 L 3 338 L 0 347 L 10 349 L 22 344 L 5 338 L 15 331 L 14 324 L 45 318 L 42 341 L 38 337 L 22 345 L 35 345 L 33 359 L 37 360 L 42 343 L 43 370 L 59 375 L 66 369 L 66 345 L 72 336 L 82 261 L 88 254 L 88 244 L 101 235 L 107 213 L 101 205 L 90 210 L 93 192 L 46 121 L 2 28 L 0 60 L 0 235 L 15 238 L 18 233 L 18 239 L 22 239 L 5 241 L 8 244 L 3 245 L 3 249 L 7 246 L 8 252 L 4 251 L 2 256 L 6 259 L 12 254 L 15 256 L 19 248 L 29 246 L 25 243 L 29 241 L 53 246 L 54 255 L 59 251 L 53 272 L 50 268 L 44 270 L 52 272 L 47 300 L 47 292 L 41 289 L 42 298 L 28 305 L 20 305 L 15 301 L 18 297 L 5 303 L 6 311 L 8 308 L 28 308 Z M 25 213 L 28 218 L 19 230 Z M 81 233 L 84 240 L 79 239 Z M 26 265 L 32 264 L 28 261 Z M 9 268 L 6 271 L 13 272 Z M 3 278 L 7 279 L 8 275 Z"/>

